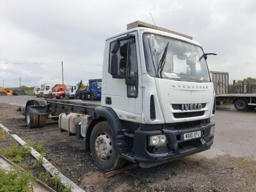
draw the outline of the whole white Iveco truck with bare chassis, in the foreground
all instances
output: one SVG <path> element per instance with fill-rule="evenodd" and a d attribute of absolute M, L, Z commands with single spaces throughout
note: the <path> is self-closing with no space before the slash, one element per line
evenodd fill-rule
<path fill-rule="evenodd" d="M 127 28 L 106 40 L 101 104 L 28 100 L 28 127 L 59 116 L 61 131 L 83 137 L 106 171 L 126 161 L 148 168 L 209 149 L 215 97 L 208 54 L 191 36 L 140 21 Z"/>

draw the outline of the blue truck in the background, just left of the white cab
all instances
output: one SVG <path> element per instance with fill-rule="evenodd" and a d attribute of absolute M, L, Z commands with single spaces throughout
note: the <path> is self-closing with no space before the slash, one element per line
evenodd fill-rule
<path fill-rule="evenodd" d="M 82 100 L 100 100 L 101 99 L 102 79 L 89 79 L 86 92 L 81 95 Z"/>

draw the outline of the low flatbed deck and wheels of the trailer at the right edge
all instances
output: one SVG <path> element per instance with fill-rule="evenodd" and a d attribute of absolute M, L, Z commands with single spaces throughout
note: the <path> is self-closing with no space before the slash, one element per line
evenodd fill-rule
<path fill-rule="evenodd" d="M 230 93 L 216 95 L 217 100 L 230 100 L 238 111 L 256 108 L 256 93 Z"/>

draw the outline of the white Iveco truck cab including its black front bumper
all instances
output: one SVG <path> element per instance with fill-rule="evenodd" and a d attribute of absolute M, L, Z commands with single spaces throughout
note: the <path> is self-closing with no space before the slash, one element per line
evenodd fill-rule
<path fill-rule="evenodd" d="M 207 54 L 191 36 L 134 25 L 106 40 L 101 106 L 126 125 L 136 161 L 209 149 L 215 98 Z"/>

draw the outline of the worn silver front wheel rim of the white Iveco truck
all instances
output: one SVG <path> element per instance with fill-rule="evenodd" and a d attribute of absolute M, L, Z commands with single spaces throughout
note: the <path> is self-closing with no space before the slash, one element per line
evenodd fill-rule
<path fill-rule="evenodd" d="M 106 132 L 100 133 L 95 140 L 95 151 L 100 159 L 108 160 L 112 155 L 112 142 Z"/>

